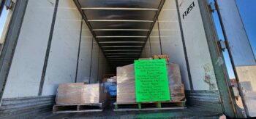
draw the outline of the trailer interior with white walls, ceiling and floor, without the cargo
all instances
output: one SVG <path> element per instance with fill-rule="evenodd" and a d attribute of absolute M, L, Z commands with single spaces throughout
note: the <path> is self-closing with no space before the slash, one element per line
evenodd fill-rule
<path fill-rule="evenodd" d="M 222 79 L 213 53 L 217 46 L 208 35 L 214 33 L 211 16 L 206 16 L 208 1 L 26 2 L 1 100 L 2 117 L 219 118 L 229 113 L 223 104 L 229 94 L 223 94 L 224 84 L 217 80 Z M 17 4 L 24 6 L 23 1 Z M 167 54 L 180 66 L 186 109 L 114 112 L 109 104 L 103 112 L 51 112 L 59 83 L 101 83 L 105 74 L 116 73 L 116 67 L 154 54 Z"/>

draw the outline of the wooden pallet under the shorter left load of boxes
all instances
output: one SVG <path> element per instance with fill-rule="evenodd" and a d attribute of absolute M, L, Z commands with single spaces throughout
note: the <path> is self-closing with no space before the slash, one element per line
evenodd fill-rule
<path fill-rule="evenodd" d="M 65 112 L 102 112 L 104 103 L 89 104 L 55 104 L 53 105 L 53 113 Z"/>

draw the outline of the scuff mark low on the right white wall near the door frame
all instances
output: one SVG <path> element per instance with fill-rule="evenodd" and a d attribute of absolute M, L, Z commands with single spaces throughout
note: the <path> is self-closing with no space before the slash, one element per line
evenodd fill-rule
<path fill-rule="evenodd" d="M 211 73 L 210 66 L 206 64 L 203 66 L 203 69 L 205 70 L 205 77 L 204 77 L 203 81 L 208 84 L 209 90 L 215 90 L 216 86 L 215 86 L 214 82 L 212 81 L 211 75 L 210 75 L 210 73 Z"/>

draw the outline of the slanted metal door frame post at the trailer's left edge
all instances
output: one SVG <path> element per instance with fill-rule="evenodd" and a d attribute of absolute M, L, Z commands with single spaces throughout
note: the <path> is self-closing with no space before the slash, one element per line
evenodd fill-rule
<path fill-rule="evenodd" d="M 7 83 L 7 77 L 12 65 L 12 57 L 15 52 L 28 1 L 29 0 L 12 1 L 13 7 L 10 9 L 12 15 L 10 16 L 7 34 L 4 38 L 4 44 L 0 54 L 0 102 L 2 100 L 4 87 Z"/>

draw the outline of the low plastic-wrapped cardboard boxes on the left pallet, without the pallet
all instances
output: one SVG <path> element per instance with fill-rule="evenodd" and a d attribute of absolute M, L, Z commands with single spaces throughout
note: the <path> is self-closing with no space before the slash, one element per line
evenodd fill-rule
<path fill-rule="evenodd" d="M 106 93 L 101 84 L 59 84 L 56 104 L 86 104 L 105 102 Z"/>

